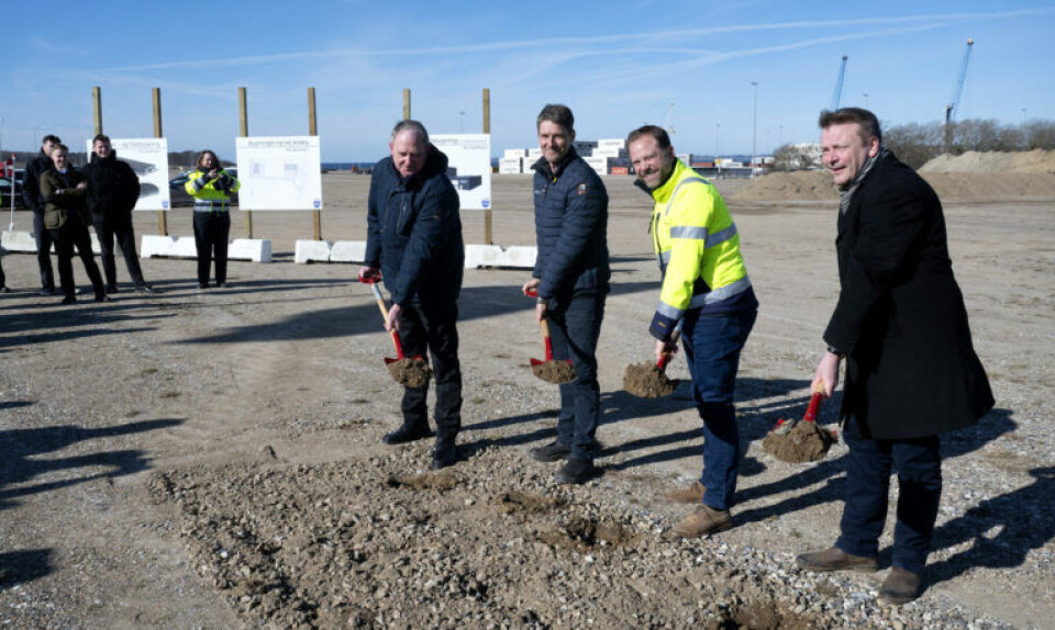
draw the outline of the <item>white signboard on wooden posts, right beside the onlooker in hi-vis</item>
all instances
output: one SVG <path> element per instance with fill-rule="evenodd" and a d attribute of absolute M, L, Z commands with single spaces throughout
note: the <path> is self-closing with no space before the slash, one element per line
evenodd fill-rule
<path fill-rule="evenodd" d="M 319 136 L 243 137 L 238 159 L 242 210 L 322 210 Z"/>

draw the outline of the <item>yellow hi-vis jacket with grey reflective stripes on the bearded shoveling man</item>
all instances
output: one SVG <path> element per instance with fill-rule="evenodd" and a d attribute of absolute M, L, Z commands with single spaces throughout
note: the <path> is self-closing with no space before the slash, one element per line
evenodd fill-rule
<path fill-rule="evenodd" d="M 676 160 L 652 196 L 653 246 L 663 273 L 658 313 L 680 319 L 686 311 L 720 307 L 751 289 L 736 224 L 711 182 Z"/>

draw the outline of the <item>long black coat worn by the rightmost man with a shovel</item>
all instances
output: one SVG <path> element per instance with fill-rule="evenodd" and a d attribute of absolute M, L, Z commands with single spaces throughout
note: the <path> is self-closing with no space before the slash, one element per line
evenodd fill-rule
<path fill-rule="evenodd" d="M 953 277 L 937 195 L 893 155 L 839 217 L 840 295 L 824 340 L 846 353 L 842 417 L 866 437 L 973 425 L 992 408 Z"/>

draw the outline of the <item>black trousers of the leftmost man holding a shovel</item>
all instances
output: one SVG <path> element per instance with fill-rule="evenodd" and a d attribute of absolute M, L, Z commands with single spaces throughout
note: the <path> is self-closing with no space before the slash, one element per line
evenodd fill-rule
<path fill-rule="evenodd" d="M 462 428 L 462 364 L 458 362 L 458 303 L 407 306 L 400 313 L 399 340 L 408 357 L 432 360 L 432 380 L 436 384 L 436 430 L 457 435 Z M 429 426 L 426 395 L 429 386 L 403 390 L 403 425 L 412 429 Z"/>

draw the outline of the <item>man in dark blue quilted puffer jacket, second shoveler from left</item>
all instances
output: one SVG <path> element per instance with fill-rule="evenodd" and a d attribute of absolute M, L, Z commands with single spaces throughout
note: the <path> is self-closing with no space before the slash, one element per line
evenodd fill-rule
<path fill-rule="evenodd" d="M 576 378 L 560 385 L 557 439 L 532 449 L 532 459 L 567 458 L 560 483 L 592 477 L 593 436 L 601 417 L 597 339 L 604 318 L 608 266 L 608 192 L 575 151 L 575 117 L 565 105 L 546 105 L 536 120 L 542 158 L 535 171 L 535 240 L 538 256 L 525 293 L 537 291 L 535 320 L 549 323 L 553 356 L 570 359 Z"/>

